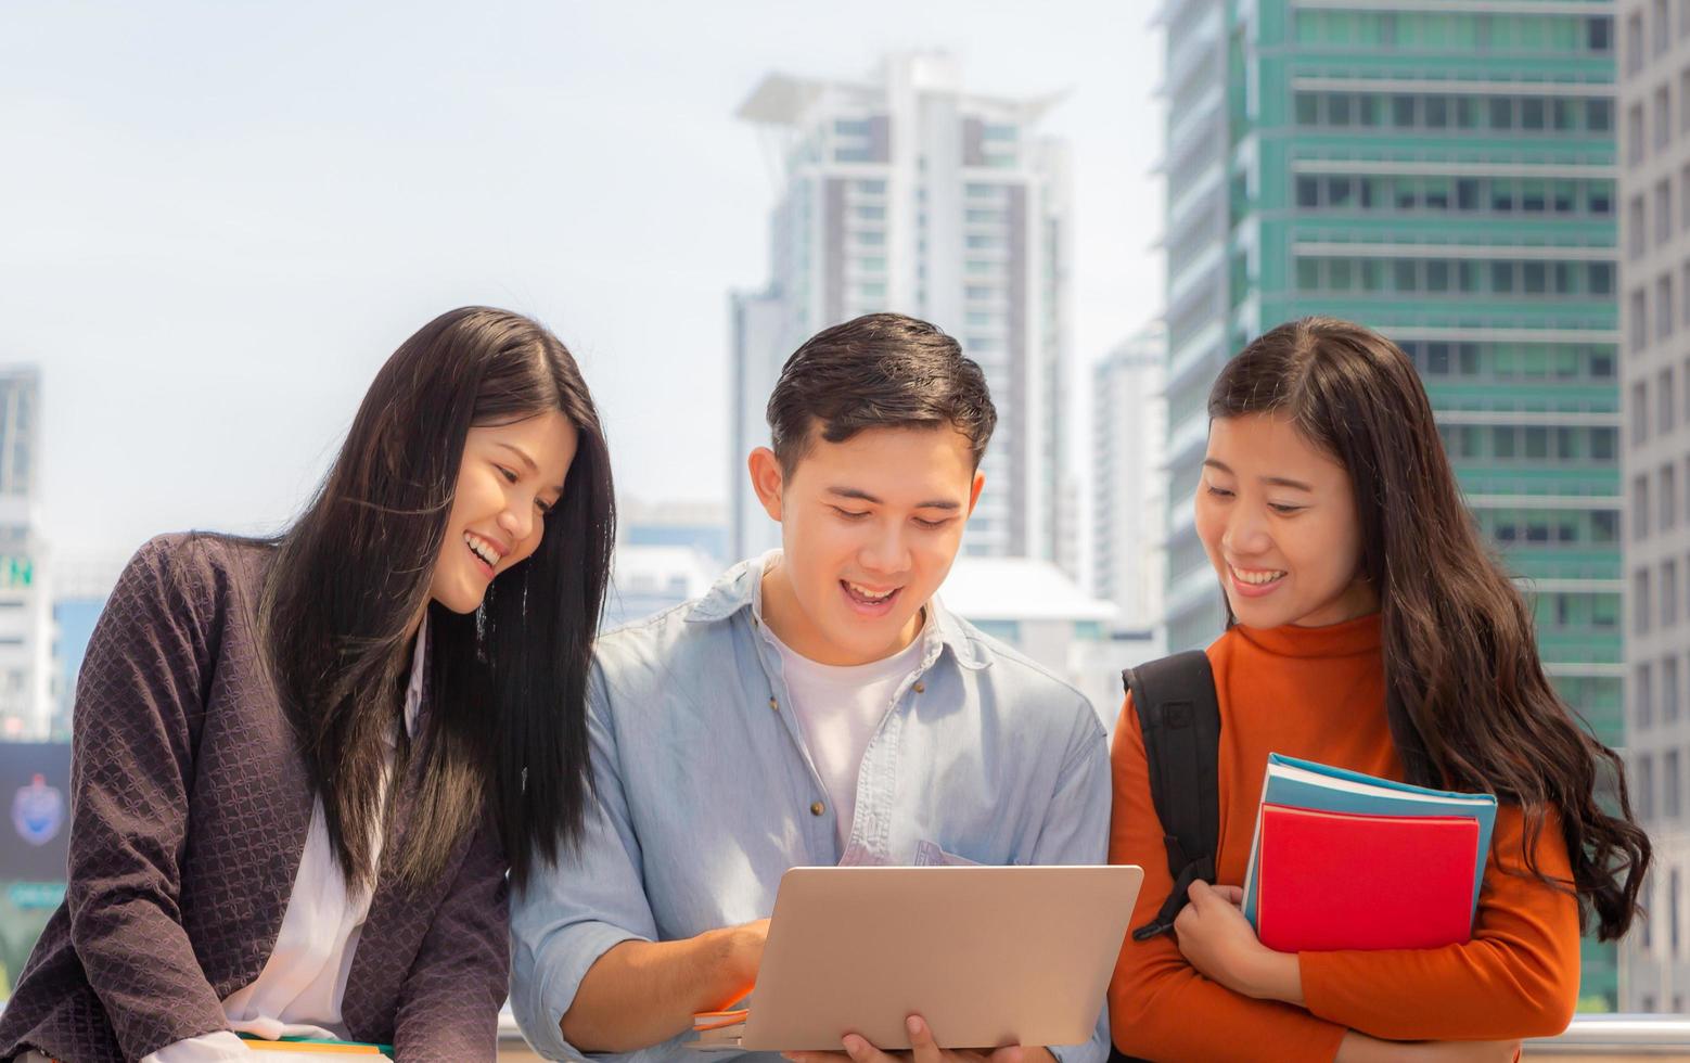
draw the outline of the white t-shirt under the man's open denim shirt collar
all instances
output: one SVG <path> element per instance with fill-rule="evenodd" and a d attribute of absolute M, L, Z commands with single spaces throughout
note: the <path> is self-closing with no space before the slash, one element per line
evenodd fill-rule
<path fill-rule="evenodd" d="M 921 632 L 891 657 L 840 668 L 799 656 L 767 624 L 762 630 L 781 652 L 788 700 L 804 732 L 804 745 L 810 747 L 821 786 L 833 803 L 833 823 L 843 848 L 857 815 L 857 771 L 862 767 L 862 755 L 892 708 L 897 688 L 921 668 Z"/>

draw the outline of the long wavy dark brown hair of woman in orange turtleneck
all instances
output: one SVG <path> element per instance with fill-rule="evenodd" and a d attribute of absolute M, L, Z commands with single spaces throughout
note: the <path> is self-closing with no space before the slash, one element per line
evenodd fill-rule
<path fill-rule="evenodd" d="M 1638 914 L 1649 838 L 1619 755 L 1590 737 L 1538 657 L 1531 612 L 1462 502 L 1403 352 L 1332 318 L 1281 324 L 1222 370 L 1210 417 L 1271 414 L 1333 455 L 1355 488 L 1362 573 L 1379 591 L 1386 717 L 1409 782 L 1524 810 L 1526 869 L 1560 813 L 1580 924 L 1619 938 Z M 1229 610 L 1229 624 L 1232 622 Z M 1619 815 L 1604 810 L 1612 794 Z"/>

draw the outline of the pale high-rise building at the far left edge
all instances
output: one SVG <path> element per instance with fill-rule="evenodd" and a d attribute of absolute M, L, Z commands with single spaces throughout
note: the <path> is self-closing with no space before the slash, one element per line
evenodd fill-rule
<path fill-rule="evenodd" d="M 0 370 L 0 739 L 42 739 L 54 715 L 39 470 L 41 373 Z"/>

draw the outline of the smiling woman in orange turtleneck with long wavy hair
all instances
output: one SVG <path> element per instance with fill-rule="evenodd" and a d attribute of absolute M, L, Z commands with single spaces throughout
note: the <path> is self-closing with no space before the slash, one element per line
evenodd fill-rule
<path fill-rule="evenodd" d="M 1149 1060 L 1509 1060 L 1560 1033 L 1589 913 L 1636 913 L 1649 843 L 1612 750 L 1538 662 L 1531 613 L 1462 505 L 1431 407 L 1389 340 L 1279 326 L 1208 399 L 1197 534 L 1232 624 L 1220 701 L 1217 882 L 1171 935 L 1122 945 L 1115 1046 Z M 1472 940 L 1276 953 L 1239 911 L 1269 752 L 1499 798 Z M 1110 860 L 1144 867 L 1132 924 L 1173 886 L 1129 705 L 1114 744 Z M 1617 784 L 1621 816 L 1597 804 Z"/>

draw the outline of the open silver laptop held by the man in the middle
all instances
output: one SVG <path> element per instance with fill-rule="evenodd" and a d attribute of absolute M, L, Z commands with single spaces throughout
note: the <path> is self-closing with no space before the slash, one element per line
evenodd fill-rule
<path fill-rule="evenodd" d="M 781 879 L 749 1011 L 696 1048 L 1078 1044 L 1104 1009 L 1139 867 L 794 867 Z"/>

